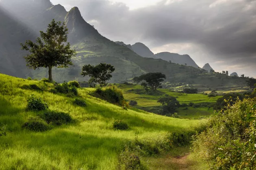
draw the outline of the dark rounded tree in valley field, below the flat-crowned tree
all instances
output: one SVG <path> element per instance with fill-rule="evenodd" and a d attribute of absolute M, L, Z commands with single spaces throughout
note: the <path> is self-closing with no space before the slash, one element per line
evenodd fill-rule
<path fill-rule="evenodd" d="M 180 107 L 180 102 L 173 96 L 159 98 L 158 103 L 161 103 L 163 107 L 163 114 L 176 112 L 176 109 Z"/>

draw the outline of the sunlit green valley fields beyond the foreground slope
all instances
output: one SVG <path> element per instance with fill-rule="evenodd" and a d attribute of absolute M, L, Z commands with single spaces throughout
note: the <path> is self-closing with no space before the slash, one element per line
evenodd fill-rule
<path fill-rule="evenodd" d="M 169 91 L 168 89 L 158 89 L 156 94 L 143 93 L 143 87 L 140 85 L 118 85 L 124 91 L 124 96 L 127 100 L 137 101 L 135 108 L 146 110 L 148 112 L 161 114 L 161 104 L 157 102 L 159 98 L 173 96 L 177 98 L 180 104 L 188 106 L 180 107 L 177 110 L 181 118 L 197 119 L 200 117 L 208 117 L 213 114 L 214 110 L 211 104 L 214 104 L 221 96 L 208 97 L 204 94 L 183 94 Z M 190 103 L 195 105 L 189 106 Z M 204 104 L 205 106 L 200 106 Z M 206 106 L 207 105 L 207 106 Z M 208 108 L 210 106 L 210 108 Z M 186 109 L 187 108 L 187 109 Z"/>

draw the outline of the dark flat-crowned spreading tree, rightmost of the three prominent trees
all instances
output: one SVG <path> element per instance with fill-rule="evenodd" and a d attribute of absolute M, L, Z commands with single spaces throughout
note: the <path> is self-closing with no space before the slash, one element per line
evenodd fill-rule
<path fill-rule="evenodd" d="M 141 75 L 139 79 L 146 82 L 143 83 L 143 86 L 150 86 L 152 90 L 156 91 L 156 89 L 161 87 L 161 82 L 165 81 L 164 79 L 166 79 L 166 76 L 161 72 L 150 72 L 148 74 Z"/>

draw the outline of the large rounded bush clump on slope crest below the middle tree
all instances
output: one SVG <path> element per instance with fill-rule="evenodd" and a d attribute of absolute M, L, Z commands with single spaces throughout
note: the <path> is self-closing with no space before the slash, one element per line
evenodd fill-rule
<path fill-rule="evenodd" d="M 95 91 L 100 97 L 110 103 L 118 104 L 119 106 L 128 106 L 124 100 L 124 95 L 121 89 L 116 86 L 108 86 L 102 89 L 97 88 Z"/>

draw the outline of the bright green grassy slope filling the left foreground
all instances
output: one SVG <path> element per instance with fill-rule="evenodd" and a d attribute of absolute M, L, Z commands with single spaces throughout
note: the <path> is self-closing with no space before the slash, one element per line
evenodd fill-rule
<path fill-rule="evenodd" d="M 47 91 L 21 89 L 25 84 L 44 85 L 0 74 L 0 123 L 10 132 L 0 140 L 0 169 L 104 169 L 113 170 L 117 155 L 128 140 L 157 138 L 173 131 L 186 131 L 200 121 L 173 119 L 141 110 L 123 110 L 88 95 L 93 89 L 79 89 L 87 107 L 75 106 L 74 98 Z M 55 127 L 48 132 L 30 132 L 21 128 L 35 112 L 26 112 L 26 99 L 35 94 L 46 100 L 51 110 L 69 113 L 76 123 Z M 113 119 L 122 119 L 128 131 L 112 129 Z M 144 160 L 144 158 L 143 158 Z"/>

